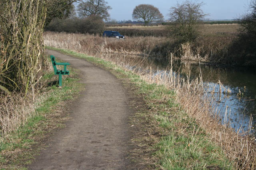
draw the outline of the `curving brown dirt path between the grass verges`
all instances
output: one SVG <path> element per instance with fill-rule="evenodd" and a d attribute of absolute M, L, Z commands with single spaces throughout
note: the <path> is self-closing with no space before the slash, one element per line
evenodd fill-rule
<path fill-rule="evenodd" d="M 82 59 L 48 50 L 48 54 L 81 70 L 85 92 L 72 103 L 66 127 L 56 131 L 32 170 L 133 169 L 127 158 L 133 110 L 122 83 L 110 72 Z"/>

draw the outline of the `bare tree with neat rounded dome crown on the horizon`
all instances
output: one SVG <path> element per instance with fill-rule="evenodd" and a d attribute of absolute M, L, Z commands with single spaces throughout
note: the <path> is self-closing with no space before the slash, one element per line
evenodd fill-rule
<path fill-rule="evenodd" d="M 137 21 L 143 21 L 145 25 L 152 21 L 163 20 L 163 15 L 158 8 L 150 4 L 140 4 L 132 12 L 132 18 Z"/>

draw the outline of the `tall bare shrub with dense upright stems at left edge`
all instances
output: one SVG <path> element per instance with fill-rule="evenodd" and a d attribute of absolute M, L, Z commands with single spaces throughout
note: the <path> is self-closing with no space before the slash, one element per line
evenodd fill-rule
<path fill-rule="evenodd" d="M 9 95 L 14 90 L 34 94 L 46 19 L 40 5 L 40 0 L 0 2 L 0 87 Z"/>

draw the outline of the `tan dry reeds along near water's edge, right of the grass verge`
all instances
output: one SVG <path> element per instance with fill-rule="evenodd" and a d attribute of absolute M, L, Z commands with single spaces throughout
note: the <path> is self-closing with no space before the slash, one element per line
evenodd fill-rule
<path fill-rule="evenodd" d="M 88 42 L 97 39 L 96 43 Z M 178 110 L 183 110 L 197 122 L 197 125 L 204 129 L 210 139 L 222 148 L 222 152 L 233 162 L 236 169 L 255 169 L 256 168 L 256 145 L 254 139 L 247 133 L 236 133 L 234 129 L 220 124 L 217 113 L 214 111 L 212 98 L 205 96 L 205 88 L 201 79 L 189 80 L 181 78 L 179 73 L 174 72 L 172 67 L 164 72 L 152 70 L 150 66 L 144 68 L 143 60 L 136 60 L 136 57 L 128 57 L 128 52 L 122 49 L 122 53 L 116 49 L 106 48 L 110 39 L 101 39 L 92 35 L 45 33 L 44 44 L 55 48 L 68 49 L 87 55 L 93 55 L 106 61 L 110 61 L 126 70 L 131 70 L 140 77 L 152 84 L 164 85 L 166 88 L 174 90 Z M 83 43 L 82 43 L 83 42 Z M 87 42 L 87 43 L 85 43 Z M 122 41 L 118 41 L 122 44 Z M 78 45 L 80 44 L 80 45 Z M 134 51 L 138 53 L 138 51 Z M 187 54 L 188 57 L 191 53 Z M 172 57 L 172 56 L 171 56 Z M 158 74 L 156 74 L 158 72 Z M 166 95 L 168 97 L 168 95 Z M 202 100 L 204 99 L 204 100 Z M 164 99 L 163 99 L 164 100 Z M 173 108 L 169 108 L 173 109 Z M 180 129 L 180 133 L 187 127 Z M 193 132 L 200 133 L 198 131 Z M 194 139 L 196 143 L 196 139 Z"/>

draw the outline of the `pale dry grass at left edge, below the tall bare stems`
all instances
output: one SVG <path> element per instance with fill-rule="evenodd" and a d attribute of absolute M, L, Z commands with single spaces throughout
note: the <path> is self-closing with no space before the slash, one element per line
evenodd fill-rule
<path fill-rule="evenodd" d="M 50 63 L 48 63 L 50 64 Z M 47 72 L 52 72 L 50 67 Z M 44 89 L 46 80 L 40 80 L 36 89 Z M 16 131 L 20 126 L 24 125 L 27 120 L 34 115 L 36 107 L 42 103 L 47 94 L 40 94 L 35 91 L 35 95 L 27 93 L 16 93 L 12 95 L 0 94 L 0 143 L 8 140 L 8 135 Z"/>

